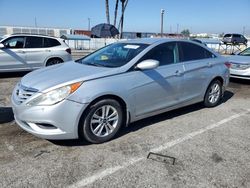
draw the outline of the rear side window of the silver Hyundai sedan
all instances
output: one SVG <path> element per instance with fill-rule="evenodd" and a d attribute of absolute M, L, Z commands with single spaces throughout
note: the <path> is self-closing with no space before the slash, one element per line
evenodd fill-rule
<path fill-rule="evenodd" d="M 216 57 L 213 53 L 207 49 L 189 42 L 179 42 L 180 47 L 180 60 L 181 61 L 192 61 L 199 59 L 207 59 Z"/>

